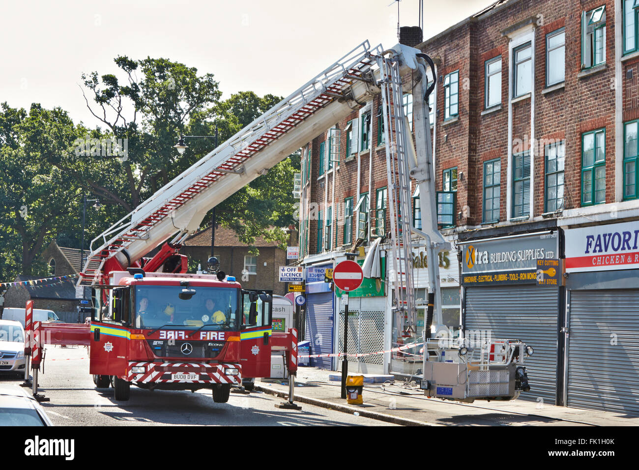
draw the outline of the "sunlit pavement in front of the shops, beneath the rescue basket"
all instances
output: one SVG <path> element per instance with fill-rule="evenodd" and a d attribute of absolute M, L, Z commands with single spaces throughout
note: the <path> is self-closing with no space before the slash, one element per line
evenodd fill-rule
<path fill-rule="evenodd" d="M 622 412 L 560 407 L 521 399 L 459 403 L 427 398 L 415 382 L 399 380 L 365 383 L 364 403 L 350 405 L 341 398 L 340 382 L 329 379 L 334 374 L 300 367 L 295 378 L 295 402 L 302 409 L 304 403 L 308 403 L 406 426 L 639 426 L 639 416 Z M 257 379 L 255 388 L 288 398 L 288 379 Z"/>

